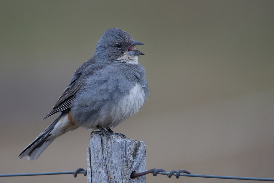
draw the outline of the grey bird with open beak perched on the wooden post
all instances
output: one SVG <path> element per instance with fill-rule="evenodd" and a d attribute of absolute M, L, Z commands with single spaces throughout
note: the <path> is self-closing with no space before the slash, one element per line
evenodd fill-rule
<path fill-rule="evenodd" d="M 95 46 L 94 56 L 72 75 L 72 80 L 44 119 L 57 119 L 19 154 L 36 160 L 53 140 L 83 127 L 99 134 L 120 135 L 111 128 L 136 114 L 149 95 L 145 69 L 138 62 L 135 41 L 125 31 L 110 28 Z M 43 120 L 44 120 L 43 119 Z"/>

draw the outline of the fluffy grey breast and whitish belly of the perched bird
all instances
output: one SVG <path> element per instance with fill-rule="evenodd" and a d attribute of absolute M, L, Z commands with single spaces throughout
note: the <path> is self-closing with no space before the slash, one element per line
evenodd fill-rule
<path fill-rule="evenodd" d="M 148 86 L 141 64 L 108 66 L 86 79 L 71 109 L 75 124 L 88 129 L 115 127 L 138 112 Z"/>

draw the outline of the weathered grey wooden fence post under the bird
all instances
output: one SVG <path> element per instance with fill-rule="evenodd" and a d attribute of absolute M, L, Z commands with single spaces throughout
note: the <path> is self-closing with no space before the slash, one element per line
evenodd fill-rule
<path fill-rule="evenodd" d="M 117 135 L 90 135 L 87 150 L 88 183 L 145 183 L 146 176 L 131 179 L 146 168 L 146 144 Z"/>

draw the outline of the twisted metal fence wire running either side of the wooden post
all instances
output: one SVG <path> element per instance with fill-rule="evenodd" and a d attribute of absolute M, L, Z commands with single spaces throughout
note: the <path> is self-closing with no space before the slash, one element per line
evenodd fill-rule
<path fill-rule="evenodd" d="M 182 173 L 183 172 L 183 173 Z M 191 174 L 187 170 L 173 170 L 171 172 L 166 172 L 164 169 L 150 169 L 145 172 L 141 172 L 138 174 L 131 174 L 132 177 L 138 177 L 146 174 L 153 174 L 153 176 L 157 176 L 157 174 L 167 175 L 169 178 L 172 176 L 176 176 L 178 179 L 179 176 L 184 177 L 202 177 L 202 178 L 215 178 L 215 179 L 238 179 L 238 180 L 259 180 L 259 181 L 274 181 L 274 178 L 257 178 L 257 177 L 231 177 L 231 176 L 217 176 L 217 175 L 200 175 L 200 174 Z M 26 173 L 26 174 L 0 174 L 0 177 L 15 177 L 15 176 L 37 176 L 37 175 L 59 175 L 59 174 L 73 174 L 73 177 L 77 177 L 77 174 L 87 175 L 87 170 L 83 168 L 79 168 L 76 171 L 59 171 L 59 172 L 43 172 L 43 173 Z"/>

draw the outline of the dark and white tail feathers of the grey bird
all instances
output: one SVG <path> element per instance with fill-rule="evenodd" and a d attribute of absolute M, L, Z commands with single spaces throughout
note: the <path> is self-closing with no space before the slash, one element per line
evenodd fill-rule
<path fill-rule="evenodd" d="M 78 127 L 70 120 L 69 113 L 61 112 L 59 117 L 44 132 L 24 148 L 19 154 L 19 159 L 28 156 L 28 160 L 35 161 L 55 138 L 76 128 Z"/>

